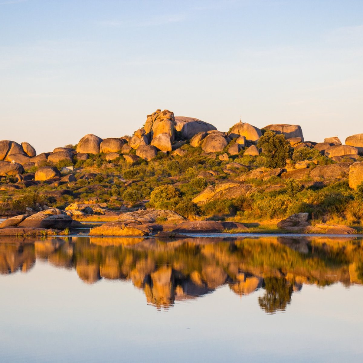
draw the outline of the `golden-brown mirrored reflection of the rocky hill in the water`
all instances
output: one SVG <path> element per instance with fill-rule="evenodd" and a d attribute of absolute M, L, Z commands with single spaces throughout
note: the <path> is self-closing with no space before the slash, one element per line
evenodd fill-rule
<path fill-rule="evenodd" d="M 266 313 L 285 310 L 303 284 L 362 284 L 361 240 L 347 238 L 3 238 L 0 273 L 28 272 L 36 259 L 76 269 L 86 284 L 131 280 L 147 303 L 168 309 L 228 284 L 233 293 L 261 289 Z"/>

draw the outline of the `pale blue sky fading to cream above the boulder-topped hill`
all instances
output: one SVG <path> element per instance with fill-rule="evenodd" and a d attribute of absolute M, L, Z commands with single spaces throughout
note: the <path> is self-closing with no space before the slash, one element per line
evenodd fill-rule
<path fill-rule="evenodd" d="M 362 101 L 361 0 L 0 0 L 0 139 L 37 152 L 156 109 L 344 143 Z"/>

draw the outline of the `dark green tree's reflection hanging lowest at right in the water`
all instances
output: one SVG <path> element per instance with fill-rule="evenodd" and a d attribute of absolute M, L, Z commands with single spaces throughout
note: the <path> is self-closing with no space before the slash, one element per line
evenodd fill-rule
<path fill-rule="evenodd" d="M 293 285 L 284 277 L 266 277 L 264 285 L 266 293 L 258 298 L 261 309 L 264 309 L 266 313 L 285 310 L 286 305 L 291 301 Z"/>

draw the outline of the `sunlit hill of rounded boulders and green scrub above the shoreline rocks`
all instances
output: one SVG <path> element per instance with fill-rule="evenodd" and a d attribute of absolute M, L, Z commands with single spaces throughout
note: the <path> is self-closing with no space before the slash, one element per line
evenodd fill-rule
<path fill-rule="evenodd" d="M 307 213 L 311 226 L 359 230 L 360 155 L 363 134 L 317 143 L 305 141 L 299 125 L 238 122 L 225 132 L 156 110 L 132 136 L 88 134 L 38 155 L 29 143 L 0 141 L 0 214 L 54 207 L 82 219 L 152 208 L 189 220 L 261 223 Z"/>

